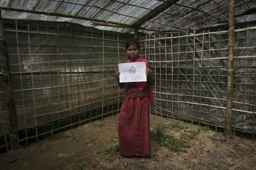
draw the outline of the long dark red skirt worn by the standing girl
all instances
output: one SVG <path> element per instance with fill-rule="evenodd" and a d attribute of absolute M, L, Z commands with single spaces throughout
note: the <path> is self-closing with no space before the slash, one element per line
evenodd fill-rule
<path fill-rule="evenodd" d="M 122 103 L 118 123 L 120 155 L 150 155 L 149 109 L 148 97 L 125 99 Z"/>

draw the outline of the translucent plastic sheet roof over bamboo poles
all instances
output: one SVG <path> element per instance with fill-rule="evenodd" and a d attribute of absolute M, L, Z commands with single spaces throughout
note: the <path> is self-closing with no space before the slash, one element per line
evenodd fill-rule
<path fill-rule="evenodd" d="M 133 26 L 142 26 L 145 30 L 151 31 L 171 31 L 226 24 L 228 2 L 228 0 L 2 0 L 0 6 L 4 18 L 65 21 L 101 30 L 129 33 L 133 31 Z M 235 15 L 236 22 L 255 22 L 256 1 L 235 1 Z M 117 23 L 116 26 L 123 28 L 111 27 L 109 26 L 111 23 Z"/>

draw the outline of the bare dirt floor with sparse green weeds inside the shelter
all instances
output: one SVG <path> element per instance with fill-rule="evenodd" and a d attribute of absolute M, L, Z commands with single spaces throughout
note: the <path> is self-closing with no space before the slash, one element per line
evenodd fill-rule
<path fill-rule="evenodd" d="M 0 154 L 0 169 L 256 169 L 256 144 L 150 115 L 151 157 L 119 156 L 117 115 Z"/>

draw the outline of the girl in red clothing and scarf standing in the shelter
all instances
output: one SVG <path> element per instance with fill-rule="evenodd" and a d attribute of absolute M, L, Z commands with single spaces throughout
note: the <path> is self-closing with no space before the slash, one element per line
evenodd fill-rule
<path fill-rule="evenodd" d="M 134 39 L 127 41 L 127 63 L 145 62 L 147 82 L 119 83 L 124 88 L 118 122 L 119 153 L 122 156 L 150 156 L 150 104 L 155 102 L 152 85 L 155 79 L 147 60 L 139 57 L 139 42 Z M 114 77 L 119 80 L 119 71 Z"/>

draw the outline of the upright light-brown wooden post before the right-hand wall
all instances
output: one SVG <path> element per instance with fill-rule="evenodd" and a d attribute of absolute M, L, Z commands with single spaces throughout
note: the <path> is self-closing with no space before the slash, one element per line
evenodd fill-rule
<path fill-rule="evenodd" d="M 233 60 L 234 60 L 234 0 L 229 0 L 229 24 L 228 24 L 228 99 L 226 114 L 226 137 L 230 138 L 231 115 L 233 102 Z"/>

